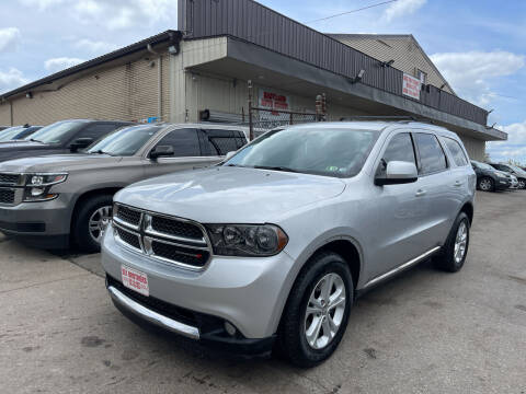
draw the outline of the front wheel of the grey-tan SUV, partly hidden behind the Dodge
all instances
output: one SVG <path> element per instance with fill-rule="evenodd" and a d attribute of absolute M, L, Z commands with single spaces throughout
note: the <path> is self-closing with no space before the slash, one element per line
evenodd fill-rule
<path fill-rule="evenodd" d="M 94 196 L 80 204 L 71 229 L 73 242 L 82 252 L 96 253 L 101 250 L 103 231 L 112 217 L 113 196 Z"/>

